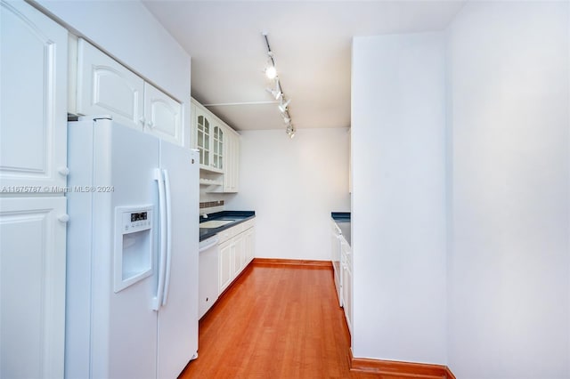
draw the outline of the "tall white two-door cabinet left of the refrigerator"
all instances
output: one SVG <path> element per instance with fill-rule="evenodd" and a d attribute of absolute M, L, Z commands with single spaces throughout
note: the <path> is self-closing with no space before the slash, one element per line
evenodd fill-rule
<path fill-rule="evenodd" d="M 68 33 L 1 1 L 0 36 L 0 377 L 61 378 Z"/>

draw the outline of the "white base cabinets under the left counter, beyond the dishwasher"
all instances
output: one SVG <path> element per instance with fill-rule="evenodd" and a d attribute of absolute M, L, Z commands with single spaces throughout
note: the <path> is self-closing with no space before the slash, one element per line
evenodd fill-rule
<path fill-rule="evenodd" d="M 254 257 L 254 220 L 242 222 L 218 234 L 219 248 L 219 291 L 222 294 Z"/>

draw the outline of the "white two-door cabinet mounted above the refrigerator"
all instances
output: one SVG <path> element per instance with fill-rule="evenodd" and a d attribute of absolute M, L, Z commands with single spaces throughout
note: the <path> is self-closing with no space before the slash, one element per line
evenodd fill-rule
<path fill-rule="evenodd" d="M 183 145 L 183 105 L 82 38 L 75 104 L 70 111 L 77 115 L 111 115 L 119 124 Z"/>

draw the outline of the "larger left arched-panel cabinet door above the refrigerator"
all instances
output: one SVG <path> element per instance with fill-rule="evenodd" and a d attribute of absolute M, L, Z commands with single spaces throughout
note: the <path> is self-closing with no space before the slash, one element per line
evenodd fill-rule
<path fill-rule="evenodd" d="M 77 113 L 111 115 L 119 124 L 142 130 L 142 78 L 82 38 L 77 60 Z"/>

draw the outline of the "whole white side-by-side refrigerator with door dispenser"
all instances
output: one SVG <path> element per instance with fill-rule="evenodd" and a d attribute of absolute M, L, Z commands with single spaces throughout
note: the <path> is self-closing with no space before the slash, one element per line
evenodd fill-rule
<path fill-rule="evenodd" d="M 198 351 L 198 156 L 69 122 L 66 378 L 175 378 Z"/>

